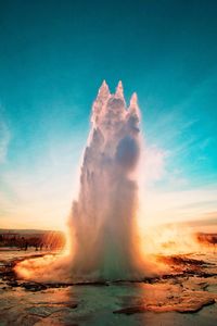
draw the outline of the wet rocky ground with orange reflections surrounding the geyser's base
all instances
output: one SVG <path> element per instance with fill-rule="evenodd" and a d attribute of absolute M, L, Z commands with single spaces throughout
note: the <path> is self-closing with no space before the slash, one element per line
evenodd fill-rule
<path fill-rule="evenodd" d="M 0 325 L 217 325 L 217 255 L 159 256 L 168 275 L 143 281 L 44 284 L 13 266 L 43 252 L 0 252 Z"/>

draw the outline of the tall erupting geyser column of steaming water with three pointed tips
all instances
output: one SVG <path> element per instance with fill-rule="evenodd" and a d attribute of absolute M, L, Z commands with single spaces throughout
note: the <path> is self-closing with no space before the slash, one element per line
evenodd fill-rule
<path fill-rule="evenodd" d="M 137 95 L 126 106 L 123 85 L 110 93 L 103 82 L 92 106 L 92 127 L 73 203 L 73 274 L 105 279 L 139 275 L 136 215 L 140 156 Z"/>

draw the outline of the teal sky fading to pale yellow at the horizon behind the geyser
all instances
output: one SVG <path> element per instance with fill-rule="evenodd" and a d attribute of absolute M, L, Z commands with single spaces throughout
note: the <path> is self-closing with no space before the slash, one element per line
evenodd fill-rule
<path fill-rule="evenodd" d="M 148 218 L 217 217 L 216 16 L 215 0 L 1 0 L 0 227 L 62 227 L 103 79 L 139 97 Z"/>

